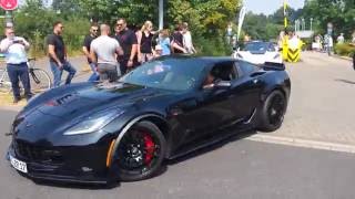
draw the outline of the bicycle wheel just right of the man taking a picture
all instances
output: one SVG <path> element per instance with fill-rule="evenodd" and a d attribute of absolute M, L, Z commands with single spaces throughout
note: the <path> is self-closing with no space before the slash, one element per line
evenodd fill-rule
<path fill-rule="evenodd" d="M 52 82 L 48 73 L 41 69 L 30 69 L 30 83 L 33 93 L 42 93 L 51 88 Z"/>

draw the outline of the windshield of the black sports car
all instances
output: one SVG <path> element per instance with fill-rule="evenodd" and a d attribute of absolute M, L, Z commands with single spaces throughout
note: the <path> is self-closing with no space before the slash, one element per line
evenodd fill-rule
<path fill-rule="evenodd" d="M 171 91 L 193 88 L 203 71 L 191 59 L 163 59 L 148 62 L 122 76 L 120 82 Z"/>

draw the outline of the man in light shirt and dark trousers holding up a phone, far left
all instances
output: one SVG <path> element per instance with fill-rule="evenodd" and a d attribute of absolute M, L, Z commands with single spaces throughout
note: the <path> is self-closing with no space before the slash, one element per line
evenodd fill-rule
<path fill-rule="evenodd" d="M 6 54 L 13 103 L 17 104 L 21 100 L 19 80 L 22 82 L 26 98 L 29 100 L 32 96 L 26 52 L 30 48 L 30 44 L 23 38 L 16 36 L 12 28 L 6 28 L 4 34 L 7 38 L 1 41 L 0 51 Z"/>

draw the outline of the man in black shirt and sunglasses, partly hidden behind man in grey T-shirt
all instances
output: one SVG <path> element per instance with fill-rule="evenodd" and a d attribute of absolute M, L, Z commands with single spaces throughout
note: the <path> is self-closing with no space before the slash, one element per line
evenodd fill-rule
<path fill-rule="evenodd" d="M 91 42 L 98 38 L 98 32 L 99 32 L 99 27 L 97 24 L 92 24 L 90 28 L 90 34 L 85 36 L 84 43 L 82 46 L 82 51 L 85 54 L 85 56 L 88 59 L 88 63 L 89 63 L 91 71 L 92 71 L 92 74 L 89 77 L 89 82 L 98 81 L 100 77 L 97 72 L 95 64 L 92 63 L 91 57 L 90 57 L 90 45 L 91 45 Z"/>

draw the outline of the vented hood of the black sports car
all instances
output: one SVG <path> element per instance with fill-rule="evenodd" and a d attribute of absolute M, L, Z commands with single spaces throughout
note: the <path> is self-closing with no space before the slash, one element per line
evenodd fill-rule
<path fill-rule="evenodd" d="M 38 105 L 37 111 L 63 119 L 75 118 L 113 106 L 148 101 L 166 93 L 166 91 L 133 84 L 97 84 L 55 95 Z"/>

